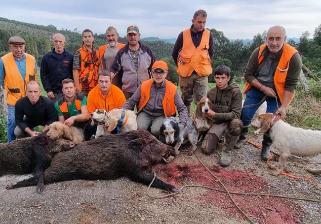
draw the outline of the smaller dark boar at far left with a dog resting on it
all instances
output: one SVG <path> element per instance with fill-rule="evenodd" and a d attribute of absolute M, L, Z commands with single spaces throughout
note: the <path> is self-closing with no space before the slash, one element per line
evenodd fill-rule
<path fill-rule="evenodd" d="M 0 144 L 0 176 L 34 173 L 38 183 L 37 191 L 40 193 L 43 190 L 44 169 L 48 167 L 53 156 L 74 146 L 75 143 L 72 141 L 51 140 L 45 134 Z M 16 186 L 6 188 L 16 188 Z"/>

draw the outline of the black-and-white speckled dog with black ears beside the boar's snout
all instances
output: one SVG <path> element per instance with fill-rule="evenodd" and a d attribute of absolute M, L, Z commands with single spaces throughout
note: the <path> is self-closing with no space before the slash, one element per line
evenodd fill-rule
<path fill-rule="evenodd" d="M 189 118 L 186 127 L 182 131 L 180 131 L 178 124 L 178 117 L 165 118 L 160 128 L 159 139 L 162 143 L 173 146 L 176 155 L 179 154 L 178 149 L 184 141 L 190 142 L 192 149 L 189 151 L 188 155 L 191 156 L 197 149 L 198 140 L 193 120 Z"/>

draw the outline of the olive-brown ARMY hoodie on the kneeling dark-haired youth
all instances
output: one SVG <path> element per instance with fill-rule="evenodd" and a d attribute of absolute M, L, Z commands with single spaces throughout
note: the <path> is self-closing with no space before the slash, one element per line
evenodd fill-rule
<path fill-rule="evenodd" d="M 232 82 L 225 89 L 217 87 L 207 92 L 210 99 L 211 109 L 216 113 L 213 117 L 214 123 L 221 124 L 231 122 L 233 119 L 240 119 L 242 110 L 242 94 L 239 86 Z"/>

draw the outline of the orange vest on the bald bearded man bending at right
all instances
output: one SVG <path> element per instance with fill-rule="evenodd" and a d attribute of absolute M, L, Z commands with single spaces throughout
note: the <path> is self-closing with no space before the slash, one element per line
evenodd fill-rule
<path fill-rule="evenodd" d="M 259 55 L 257 58 L 257 62 L 258 64 L 260 64 L 262 62 L 262 60 L 264 59 L 264 55 L 262 55 L 262 52 L 264 51 L 264 49 L 267 47 L 267 44 L 263 44 L 262 46 L 260 46 L 260 50 L 259 50 Z M 284 47 L 283 47 L 283 52 L 279 61 L 279 64 L 277 66 L 277 69 L 274 73 L 274 77 L 273 77 L 273 81 L 274 81 L 274 85 L 275 88 L 277 90 L 278 96 L 280 98 L 281 103 L 283 103 L 283 96 L 284 96 L 284 86 L 285 86 L 285 79 L 286 79 L 286 75 L 287 75 L 287 71 L 289 69 L 289 64 L 290 64 L 290 60 L 292 58 L 292 56 L 294 54 L 296 54 L 298 51 L 292 47 L 291 45 L 284 43 Z M 245 83 L 245 90 L 244 90 L 244 94 L 251 88 L 252 86 L 246 82 Z M 291 98 L 291 101 L 293 99 L 294 95 Z"/>

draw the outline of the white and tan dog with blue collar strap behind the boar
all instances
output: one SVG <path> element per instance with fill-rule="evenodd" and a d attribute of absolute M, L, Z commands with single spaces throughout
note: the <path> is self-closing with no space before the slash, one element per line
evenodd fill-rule
<path fill-rule="evenodd" d="M 118 133 L 137 130 L 136 114 L 131 110 L 113 109 L 107 113 L 105 128 L 107 132 L 117 128 Z"/>

